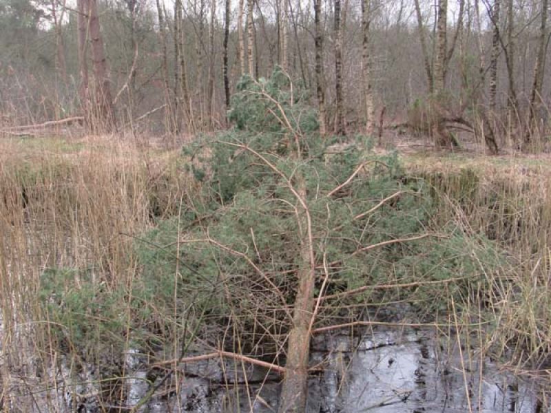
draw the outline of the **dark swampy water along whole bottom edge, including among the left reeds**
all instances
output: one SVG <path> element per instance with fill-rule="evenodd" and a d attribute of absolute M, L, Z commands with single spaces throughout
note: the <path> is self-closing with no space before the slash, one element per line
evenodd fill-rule
<path fill-rule="evenodd" d="M 189 354 L 190 356 L 193 354 Z M 160 374 L 137 350 L 127 352 L 118 396 L 100 402 L 94 369 L 61 367 L 21 379 L 24 391 L 0 411 L 271 413 L 278 410 L 280 376 L 240 361 L 209 359 Z M 551 413 L 549 370 L 523 379 L 499 370 L 479 352 L 430 330 L 378 329 L 361 336 L 316 336 L 311 352 L 307 413 L 517 412 Z M 168 367 L 169 368 L 169 367 Z M 154 372 L 157 370 L 157 373 Z M 167 370 L 164 370 L 165 372 Z M 546 376 L 544 375 L 546 374 Z M 102 374 L 105 377 L 105 374 Z M 45 379 L 55 385 L 47 389 Z M 34 384 L 33 384 L 34 383 Z M 147 395 L 154 394 L 151 398 Z M 143 403 L 147 400 L 147 403 Z"/>

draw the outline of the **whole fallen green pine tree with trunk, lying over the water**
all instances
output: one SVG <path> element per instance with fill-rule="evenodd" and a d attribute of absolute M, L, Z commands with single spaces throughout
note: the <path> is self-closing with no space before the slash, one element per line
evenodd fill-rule
<path fill-rule="evenodd" d="M 235 127 L 185 149 L 201 195 L 138 248 L 145 279 L 171 280 L 178 268 L 178 282 L 154 292 L 157 306 L 163 297 L 167 306 L 174 297 L 182 308 L 193 302 L 203 321 L 232 326 L 234 351 L 277 350 L 280 412 L 305 411 L 311 335 L 342 315 L 328 308 L 381 299 L 362 287 L 391 274 L 410 281 L 423 271 L 411 269 L 412 257 L 432 248 L 424 182 L 404 178 L 395 155 L 374 156 L 368 138 L 322 138 L 308 101 L 281 70 L 242 78 L 229 113 Z M 464 268 L 464 256 L 453 256 L 450 275 Z"/>

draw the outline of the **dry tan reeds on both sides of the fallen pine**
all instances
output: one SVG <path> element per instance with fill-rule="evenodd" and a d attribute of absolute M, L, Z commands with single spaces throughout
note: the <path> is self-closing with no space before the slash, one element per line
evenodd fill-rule
<path fill-rule="evenodd" d="M 196 181 L 184 172 L 180 152 L 160 145 L 110 137 L 4 138 L 0 145 L 4 407 L 47 403 L 50 411 L 60 409 L 56 391 L 71 386 L 61 378 L 82 380 L 90 363 L 107 370 L 105 382 L 94 379 L 101 389 L 96 398 L 105 405 L 123 401 L 125 366 L 116 357 L 136 345 L 129 334 L 140 326 L 136 320 L 149 335 L 157 328 L 157 350 L 165 348 L 165 360 L 178 355 L 174 346 L 180 340 L 189 346 L 189 331 L 183 331 L 188 326 L 178 325 L 155 297 L 149 297 L 153 315 L 136 314 L 133 286 L 140 283 L 141 272 L 134 245 L 158 220 L 178 215 L 188 195 L 197 193 Z M 432 188 L 439 204 L 435 224 L 453 222 L 475 243 L 484 233 L 508 251 L 498 271 L 469 282 L 464 296 L 458 298 L 447 287 L 440 293 L 448 312 L 438 321 L 452 328 L 442 332 L 452 341 L 455 334 L 476 341 L 477 351 L 501 357 L 517 373 L 549 368 L 551 171 L 546 160 L 428 153 L 406 156 L 404 164 L 408 175 L 424 178 Z M 61 269 L 63 277 L 48 284 L 52 269 Z M 67 297 L 79 288 L 92 288 L 76 295 L 85 297 L 83 313 L 49 319 L 56 314 L 44 306 L 43 297 L 48 296 L 46 303 L 64 297 L 67 302 L 56 305 L 74 310 L 78 306 Z M 416 293 L 404 289 L 404 297 L 412 294 L 413 301 Z M 116 305 L 107 312 L 94 307 L 105 305 L 96 297 L 109 294 Z M 59 320 L 67 325 L 57 326 Z M 73 330 L 72 324 L 79 323 L 89 330 Z M 105 337 L 105 331 L 117 337 L 86 343 Z M 167 351 L 171 346 L 174 351 Z M 163 359 L 157 362 L 163 365 Z"/>

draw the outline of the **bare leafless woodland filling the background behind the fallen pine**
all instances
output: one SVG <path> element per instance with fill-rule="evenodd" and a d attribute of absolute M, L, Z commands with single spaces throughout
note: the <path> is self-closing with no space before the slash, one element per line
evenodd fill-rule
<path fill-rule="evenodd" d="M 404 126 L 450 147 L 466 129 L 490 153 L 545 149 L 548 14 L 547 0 L 3 0 L 1 125 L 194 136 L 230 125 L 241 76 L 280 67 L 322 134 Z"/>

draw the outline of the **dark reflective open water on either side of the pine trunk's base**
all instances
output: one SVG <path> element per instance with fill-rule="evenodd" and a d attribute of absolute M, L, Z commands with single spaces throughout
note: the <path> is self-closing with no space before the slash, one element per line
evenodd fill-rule
<path fill-rule="evenodd" d="M 319 369 L 310 379 L 307 412 L 551 412 L 533 381 L 500 372 L 484 357 L 449 352 L 432 335 L 375 330 L 353 339 L 316 337 L 311 365 Z M 279 378 L 273 374 L 250 366 L 243 374 L 233 362 L 185 367 L 189 374 L 177 392 L 173 386 L 140 411 L 277 412 Z M 145 372 L 137 368 L 134 374 L 143 377 Z M 130 387 L 132 405 L 147 385 L 136 381 Z"/>

